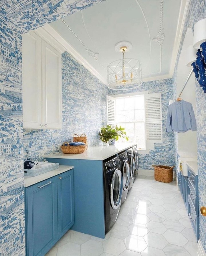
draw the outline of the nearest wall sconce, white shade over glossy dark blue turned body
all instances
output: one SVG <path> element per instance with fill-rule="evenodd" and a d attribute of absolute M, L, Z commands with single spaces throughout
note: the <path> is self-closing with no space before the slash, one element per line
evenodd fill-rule
<path fill-rule="evenodd" d="M 194 25 L 193 47 L 198 50 L 196 61 L 191 63 L 191 66 L 199 85 L 206 93 L 206 19 L 199 20 Z"/>

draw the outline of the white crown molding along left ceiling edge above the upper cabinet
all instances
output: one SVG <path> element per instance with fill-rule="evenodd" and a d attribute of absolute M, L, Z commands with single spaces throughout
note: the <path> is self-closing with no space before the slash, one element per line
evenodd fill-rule
<path fill-rule="evenodd" d="M 49 41 L 60 50 L 60 52 L 67 51 L 70 53 L 80 64 L 82 64 L 87 70 L 89 70 L 96 78 L 98 78 L 103 84 L 107 84 L 107 81 L 101 76 L 87 61 L 84 59 L 51 25 L 45 26 L 35 30 L 37 34 L 43 37 L 46 41 Z"/>

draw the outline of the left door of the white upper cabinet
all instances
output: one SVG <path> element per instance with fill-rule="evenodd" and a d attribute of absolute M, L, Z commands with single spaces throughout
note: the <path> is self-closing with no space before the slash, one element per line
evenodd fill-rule
<path fill-rule="evenodd" d="M 22 36 L 23 127 L 41 128 L 41 38 Z"/>

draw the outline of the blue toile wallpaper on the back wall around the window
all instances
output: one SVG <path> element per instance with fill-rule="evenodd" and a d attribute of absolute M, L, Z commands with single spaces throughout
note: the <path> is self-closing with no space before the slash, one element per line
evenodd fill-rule
<path fill-rule="evenodd" d="M 162 94 L 162 120 L 163 120 L 163 143 L 155 143 L 155 150 L 150 150 L 150 154 L 139 155 L 139 168 L 143 170 L 154 170 L 155 165 L 175 165 L 174 161 L 174 133 L 166 132 L 167 108 L 169 100 L 173 99 L 173 79 L 164 79 L 150 82 L 143 82 L 138 88 L 129 91 L 109 90 L 109 95 L 119 93 L 135 93 L 148 91 L 148 93 Z"/>

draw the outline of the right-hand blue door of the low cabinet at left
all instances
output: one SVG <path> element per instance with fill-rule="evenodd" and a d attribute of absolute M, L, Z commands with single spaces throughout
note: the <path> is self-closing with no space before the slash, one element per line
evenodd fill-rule
<path fill-rule="evenodd" d="M 73 170 L 57 176 L 58 238 L 74 225 L 74 181 Z"/>

